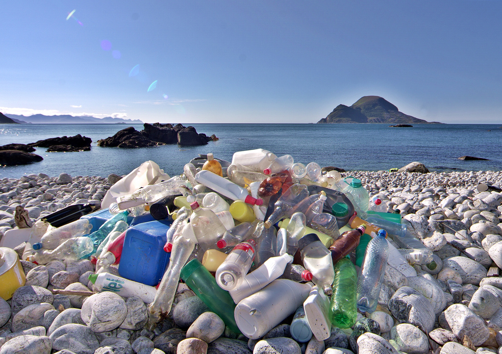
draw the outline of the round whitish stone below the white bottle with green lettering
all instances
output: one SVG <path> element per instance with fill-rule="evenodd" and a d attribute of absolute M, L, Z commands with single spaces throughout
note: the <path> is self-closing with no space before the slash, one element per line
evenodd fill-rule
<path fill-rule="evenodd" d="M 126 319 L 127 306 L 119 295 L 105 291 L 89 296 L 80 315 L 90 329 L 101 333 L 117 328 Z"/>

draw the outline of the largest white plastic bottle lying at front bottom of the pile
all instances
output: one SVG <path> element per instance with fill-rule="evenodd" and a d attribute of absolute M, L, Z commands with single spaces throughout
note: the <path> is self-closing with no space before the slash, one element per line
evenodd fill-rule
<path fill-rule="evenodd" d="M 258 339 L 293 314 L 307 299 L 311 285 L 276 279 L 240 301 L 234 317 L 242 334 Z"/>

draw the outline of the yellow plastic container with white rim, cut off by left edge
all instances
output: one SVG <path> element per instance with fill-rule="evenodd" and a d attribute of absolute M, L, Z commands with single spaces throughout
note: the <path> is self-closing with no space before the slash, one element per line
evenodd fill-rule
<path fill-rule="evenodd" d="M 0 297 L 9 300 L 25 283 L 25 272 L 16 251 L 0 247 Z"/>

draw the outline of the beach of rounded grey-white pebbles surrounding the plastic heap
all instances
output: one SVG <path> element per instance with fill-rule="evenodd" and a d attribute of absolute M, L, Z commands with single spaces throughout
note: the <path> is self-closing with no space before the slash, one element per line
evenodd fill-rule
<path fill-rule="evenodd" d="M 408 232 L 434 252 L 437 264 L 434 270 L 415 265 L 418 276 L 408 278 L 387 267 L 377 310 L 359 313 L 353 328 L 333 326 L 328 339 L 302 343 L 291 337 L 288 318 L 249 339 L 225 330 L 180 283 L 173 310 L 152 331 L 145 328 L 148 304 L 135 296 L 51 292 L 93 291 L 89 260 L 22 261 L 25 286 L 8 301 L 0 298 L 0 354 L 502 353 L 502 192 L 476 189 L 480 183 L 500 188 L 502 171 L 342 173 L 349 175 L 400 210 Z M 99 203 L 119 178 L 0 179 L 0 237 L 16 226 L 18 205 L 34 222 L 71 204 Z"/>

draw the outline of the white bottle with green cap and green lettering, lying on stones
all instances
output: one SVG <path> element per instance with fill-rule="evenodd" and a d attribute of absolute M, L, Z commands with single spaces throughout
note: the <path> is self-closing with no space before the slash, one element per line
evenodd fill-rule
<path fill-rule="evenodd" d="M 98 291 L 112 291 L 123 297 L 139 296 L 146 304 L 154 301 L 157 294 L 157 289 L 153 286 L 134 282 L 110 273 L 91 274 L 89 280 Z"/>

